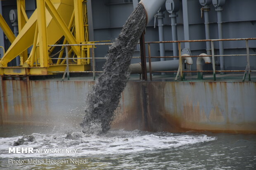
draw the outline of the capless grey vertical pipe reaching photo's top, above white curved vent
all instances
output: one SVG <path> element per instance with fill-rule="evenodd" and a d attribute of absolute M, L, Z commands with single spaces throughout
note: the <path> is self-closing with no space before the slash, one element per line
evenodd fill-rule
<path fill-rule="evenodd" d="M 182 8 L 183 8 L 184 40 L 190 40 L 187 0 L 182 0 Z M 185 42 L 185 47 L 187 49 L 190 49 L 190 43 L 189 42 Z"/>

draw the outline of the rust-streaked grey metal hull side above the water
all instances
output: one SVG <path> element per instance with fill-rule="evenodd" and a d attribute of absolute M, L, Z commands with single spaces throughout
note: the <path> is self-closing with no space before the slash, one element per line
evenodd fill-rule
<path fill-rule="evenodd" d="M 94 82 L 0 82 L 0 124 L 79 126 Z M 112 128 L 256 134 L 256 82 L 128 82 Z"/>

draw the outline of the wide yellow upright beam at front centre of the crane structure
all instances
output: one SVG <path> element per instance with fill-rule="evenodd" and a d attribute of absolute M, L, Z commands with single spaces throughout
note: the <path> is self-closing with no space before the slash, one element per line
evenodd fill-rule
<path fill-rule="evenodd" d="M 38 10 L 38 38 L 39 38 L 39 54 L 40 67 L 49 67 L 48 61 L 48 44 L 47 44 L 47 28 L 45 17 L 45 0 L 36 0 Z"/>

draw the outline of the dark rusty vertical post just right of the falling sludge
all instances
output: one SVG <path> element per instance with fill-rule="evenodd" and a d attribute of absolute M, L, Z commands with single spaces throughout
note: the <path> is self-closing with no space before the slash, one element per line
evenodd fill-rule
<path fill-rule="evenodd" d="M 142 80 L 147 81 L 147 61 L 145 51 L 145 31 L 140 36 L 140 61 L 142 69 Z"/>

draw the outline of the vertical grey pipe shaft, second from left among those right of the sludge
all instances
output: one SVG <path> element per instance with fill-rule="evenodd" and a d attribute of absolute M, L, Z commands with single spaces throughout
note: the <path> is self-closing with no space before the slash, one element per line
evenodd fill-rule
<path fill-rule="evenodd" d="M 176 13 L 173 12 L 171 15 L 171 30 L 172 30 L 172 37 L 173 41 L 178 41 L 178 34 L 177 34 L 177 20 L 176 20 Z M 173 56 L 178 56 L 178 44 L 173 43 Z M 178 60 L 178 58 L 173 58 L 173 60 Z"/>

